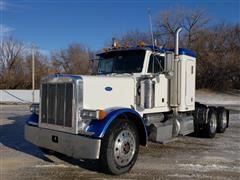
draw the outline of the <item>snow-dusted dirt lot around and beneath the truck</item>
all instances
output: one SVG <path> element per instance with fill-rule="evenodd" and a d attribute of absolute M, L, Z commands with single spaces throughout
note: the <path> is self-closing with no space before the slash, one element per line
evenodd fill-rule
<path fill-rule="evenodd" d="M 0 105 L 0 180 L 5 179 L 239 179 L 240 96 L 203 92 L 198 99 L 211 104 L 227 102 L 230 127 L 214 139 L 178 137 L 162 145 L 141 148 L 130 173 L 109 176 L 98 172 L 96 161 L 64 155 L 45 155 L 24 140 L 26 105 Z"/>

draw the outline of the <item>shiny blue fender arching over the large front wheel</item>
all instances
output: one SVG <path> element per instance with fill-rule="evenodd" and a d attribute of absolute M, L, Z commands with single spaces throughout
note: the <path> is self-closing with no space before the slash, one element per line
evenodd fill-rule
<path fill-rule="evenodd" d="M 129 115 L 134 117 L 134 122 L 137 125 L 137 129 L 139 131 L 140 136 L 140 144 L 147 144 L 147 130 L 145 124 L 143 122 L 142 117 L 133 109 L 129 108 L 121 108 L 115 109 L 111 111 L 103 120 L 93 120 L 88 126 L 87 131 L 94 133 L 92 137 L 94 138 L 102 138 L 106 133 L 110 124 L 116 120 L 119 115 L 123 115 L 126 119 L 129 119 Z"/>

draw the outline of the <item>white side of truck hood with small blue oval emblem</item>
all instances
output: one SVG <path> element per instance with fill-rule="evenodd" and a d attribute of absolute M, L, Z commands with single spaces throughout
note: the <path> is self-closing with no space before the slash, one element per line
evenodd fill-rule
<path fill-rule="evenodd" d="M 132 76 L 81 76 L 83 109 L 134 106 L 135 80 Z"/>

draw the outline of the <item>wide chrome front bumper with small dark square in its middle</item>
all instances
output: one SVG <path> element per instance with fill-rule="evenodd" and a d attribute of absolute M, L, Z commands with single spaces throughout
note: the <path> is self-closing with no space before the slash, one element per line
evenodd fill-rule
<path fill-rule="evenodd" d="M 101 139 L 25 125 L 25 139 L 39 147 L 74 157 L 99 159 Z"/>

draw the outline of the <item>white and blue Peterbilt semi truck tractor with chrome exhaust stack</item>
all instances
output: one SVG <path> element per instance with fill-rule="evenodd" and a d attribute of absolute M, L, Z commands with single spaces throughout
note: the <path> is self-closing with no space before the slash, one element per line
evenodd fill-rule
<path fill-rule="evenodd" d="M 195 102 L 196 56 L 179 48 L 180 31 L 174 49 L 114 42 L 98 54 L 96 75 L 43 78 L 26 140 L 77 159 L 98 159 L 106 172 L 122 174 L 148 140 L 223 133 L 229 111 Z"/>

